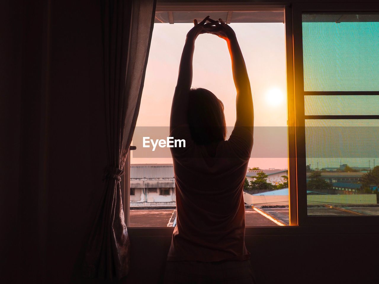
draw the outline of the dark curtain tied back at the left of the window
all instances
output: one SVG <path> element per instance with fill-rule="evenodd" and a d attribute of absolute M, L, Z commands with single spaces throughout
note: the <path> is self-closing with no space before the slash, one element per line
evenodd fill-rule
<path fill-rule="evenodd" d="M 129 271 L 120 181 L 141 102 L 155 6 L 156 0 L 101 1 L 108 164 L 85 256 L 87 277 L 120 279 Z"/>

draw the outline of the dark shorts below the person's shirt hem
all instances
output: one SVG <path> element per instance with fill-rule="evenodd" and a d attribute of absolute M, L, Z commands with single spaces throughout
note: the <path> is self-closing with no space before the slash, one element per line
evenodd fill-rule
<path fill-rule="evenodd" d="M 244 261 L 166 261 L 164 284 L 256 284 L 250 259 Z"/>

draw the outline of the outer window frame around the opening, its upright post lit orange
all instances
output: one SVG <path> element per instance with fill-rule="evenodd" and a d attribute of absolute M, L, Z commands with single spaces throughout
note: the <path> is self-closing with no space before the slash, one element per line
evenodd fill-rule
<path fill-rule="evenodd" d="M 305 215 L 304 215 L 304 194 L 298 188 L 301 186 L 299 183 L 299 176 L 303 174 L 305 177 L 305 130 L 299 128 L 301 125 L 301 119 L 304 120 L 304 97 L 302 98 L 301 105 L 301 93 L 304 93 L 303 69 L 302 69 L 302 31 L 301 31 L 301 14 L 302 11 L 330 11 L 338 9 L 340 3 L 291 3 L 282 2 L 282 5 L 278 5 L 280 2 L 264 2 L 264 3 L 186 3 L 180 0 L 174 0 L 170 3 L 161 3 L 158 1 L 156 11 L 225 11 L 229 10 L 246 10 L 257 8 L 272 9 L 283 8 L 284 9 L 284 24 L 285 24 L 285 48 L 286 48 L 286 62 L 287 62 L 287 107 L 288 107 L 288 185 L 289 185 L 289 219 L 290 226 L 249 226 L 246 227 L 246 235 L 264 235 L 264 234 L 361 234 L 361 233 L 379 233 L 379 225 L 375 225 L 379 218 L 377 216 L 359 216 L 363 217 L 365 222 L 357 223 L 355 216 L 341 216 L 338 217 L 337 222 L 335 218 L 330 220 L 320 220 L 319 218 L 309 220 L 306 212 L 306 194 L 305 194 Z M 322 9 L 319 7 L 323 6 Z M 362 6 L 365 6 L 366 12 L 372 12 L 374 7 L 378 5 L 376 3 L 344 3 L 344 10 L 350 9 L 351 11 L 362 10 Z M 299 21 L 300 16 L 300 21 Z M 300 30 L 299 30 L 300 23 Z M 301 41 L 299 41 L 301 39 Z M 301 53 L 299 53 L 299 48 Z M 301 61 L 299 62 L 299 59 Z M 301 64 L 300 64 L 301 63 Z M 299 74 L 298 74 L 299 73 Z M 296 78 L 296 80 L 295 80 Z M 302 86 L 299 91 L 299 82 Z M 378 92 L 376 92 L 378 94 Z M 304 96 L 304 95 L 303 95 Z M 295 104 L 296 102 L 296 104 Z M 300 103 L 300 105 L 299 105 Z M 296 113 L 296 115 L 295 115 Z M 341 115 L 339 116 L 341 119 Z M 304 123 L 303 123 L 304 125 Z M 132 149 L 133 150 L 133 149 Z M 130 151 L 129 151 L 130 153 Z M 304 161 L 302 161 L 304 159 Z M 301 168 L 301 165 L 304 165 Z M 125 173 L 122 176 L 121 190 L 122 201 L 124 204 L 125 224 L 128 228 L 128 232 L 133 236 L 171 236 L 174 228 L 171 227 L 130 227 L 130 155 L 127 156 L 125 162 Z M 301 179 L 300 179 L 301 180 Z M 126 206 L 125 206 L 126 205 Z M 308 218 L 307 218 L 308 217 Z M 321 217 L 321 218 L 329 218 Z M 374 218 L 371 218 L 374 217 Z M 312 216 L 311 218 L 314 218 Z M 352 220 L 353 222 L 349 221 Z M 362 218 L 361 218 L 362 220 Z M 310 222 L 312 221 L 312 222 Z M 313 222 L 314 221 L 314 222 Z M 378 222 L 377 222 L 378 223 Z M 339 226 L 330 226 L 336 225 Z M 357 226 L 360 225 L 360 226 Z M 365 226 L 366 225 L 366 226 Z"/>

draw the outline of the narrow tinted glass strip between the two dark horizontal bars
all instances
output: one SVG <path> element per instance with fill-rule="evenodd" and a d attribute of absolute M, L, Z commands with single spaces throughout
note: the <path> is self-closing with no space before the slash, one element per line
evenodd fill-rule
<path fill-rule="evenodd" d="M 379 95 L 304 96 L 305 115 L 378 115 Z"/>

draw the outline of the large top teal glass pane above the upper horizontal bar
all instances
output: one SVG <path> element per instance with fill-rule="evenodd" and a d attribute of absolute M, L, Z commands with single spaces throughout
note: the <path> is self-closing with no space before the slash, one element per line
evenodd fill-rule
<path fill-rule="evenodd" d="M 303 14 L 304 91 L 379 91 L 378 18 Z"/>

